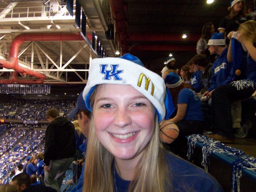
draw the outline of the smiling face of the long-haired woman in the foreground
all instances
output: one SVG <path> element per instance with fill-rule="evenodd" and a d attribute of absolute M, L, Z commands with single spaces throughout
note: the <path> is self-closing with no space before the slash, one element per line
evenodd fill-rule
<path fill-rule="evenodd" d="M 115 158 L 133 159 L 155 129 L 155 108 L 131 85 L 103 84 L 95 95 L 93 123 L 101 144 Z"/>

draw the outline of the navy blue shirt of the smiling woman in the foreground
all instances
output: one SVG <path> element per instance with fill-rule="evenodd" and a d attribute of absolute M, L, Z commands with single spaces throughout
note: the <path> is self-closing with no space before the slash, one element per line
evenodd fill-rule
<path fill-rule="evenodd" d="M 203 169 L 174 155 L 166 153 L 166 160 L 172 175 L 171 186 L 173 192 L 189 191 L 195 192 L 223 192 L 220 184 Z M 127 192 L 130 181 L 125 181 L 115 171 L 113 188 L 115 192 Z M 116 191 L 117 189 L 117 191 Z"/>

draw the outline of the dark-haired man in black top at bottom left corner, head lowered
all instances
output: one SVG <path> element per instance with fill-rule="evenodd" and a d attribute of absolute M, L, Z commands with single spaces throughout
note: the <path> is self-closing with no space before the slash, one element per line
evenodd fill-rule
<path fill-rule="evenodd" d="M 11 184 L 14 185 L 18 192 L 57 192 L 51 187 L 45 185 L 30 185 L 31 179 L 27 173 L 20 173 L 13 177 Z"/>

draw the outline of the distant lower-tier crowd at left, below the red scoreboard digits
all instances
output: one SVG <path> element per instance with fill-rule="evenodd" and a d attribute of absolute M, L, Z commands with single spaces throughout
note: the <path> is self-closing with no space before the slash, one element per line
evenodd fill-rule
<path fill-rule="evenodd" d="M 5 125 L 6 126 L 6 125 Z M 3 126 L 1 126 L 3 127 Z M 24 139 L 21 139 L 25 135 Z M 0 180 L 6 183 L 9 173 L 15 170 L 19 163 L 24 165 L 25 159 L 43 151 L 45 130 L 6 128 L 1 136 Z M 19 142 L 17 144 L 17 142 Z"/>

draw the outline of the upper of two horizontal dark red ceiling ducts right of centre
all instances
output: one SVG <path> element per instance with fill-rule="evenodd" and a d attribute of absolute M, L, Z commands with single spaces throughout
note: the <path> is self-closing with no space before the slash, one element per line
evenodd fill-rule
<path fill-rule="evenodd" d="M 180 34 L 173 33 L 128 33 L 128 41 L 198 41 L 200 35 L 190 34 L 182 39 Z"/>

